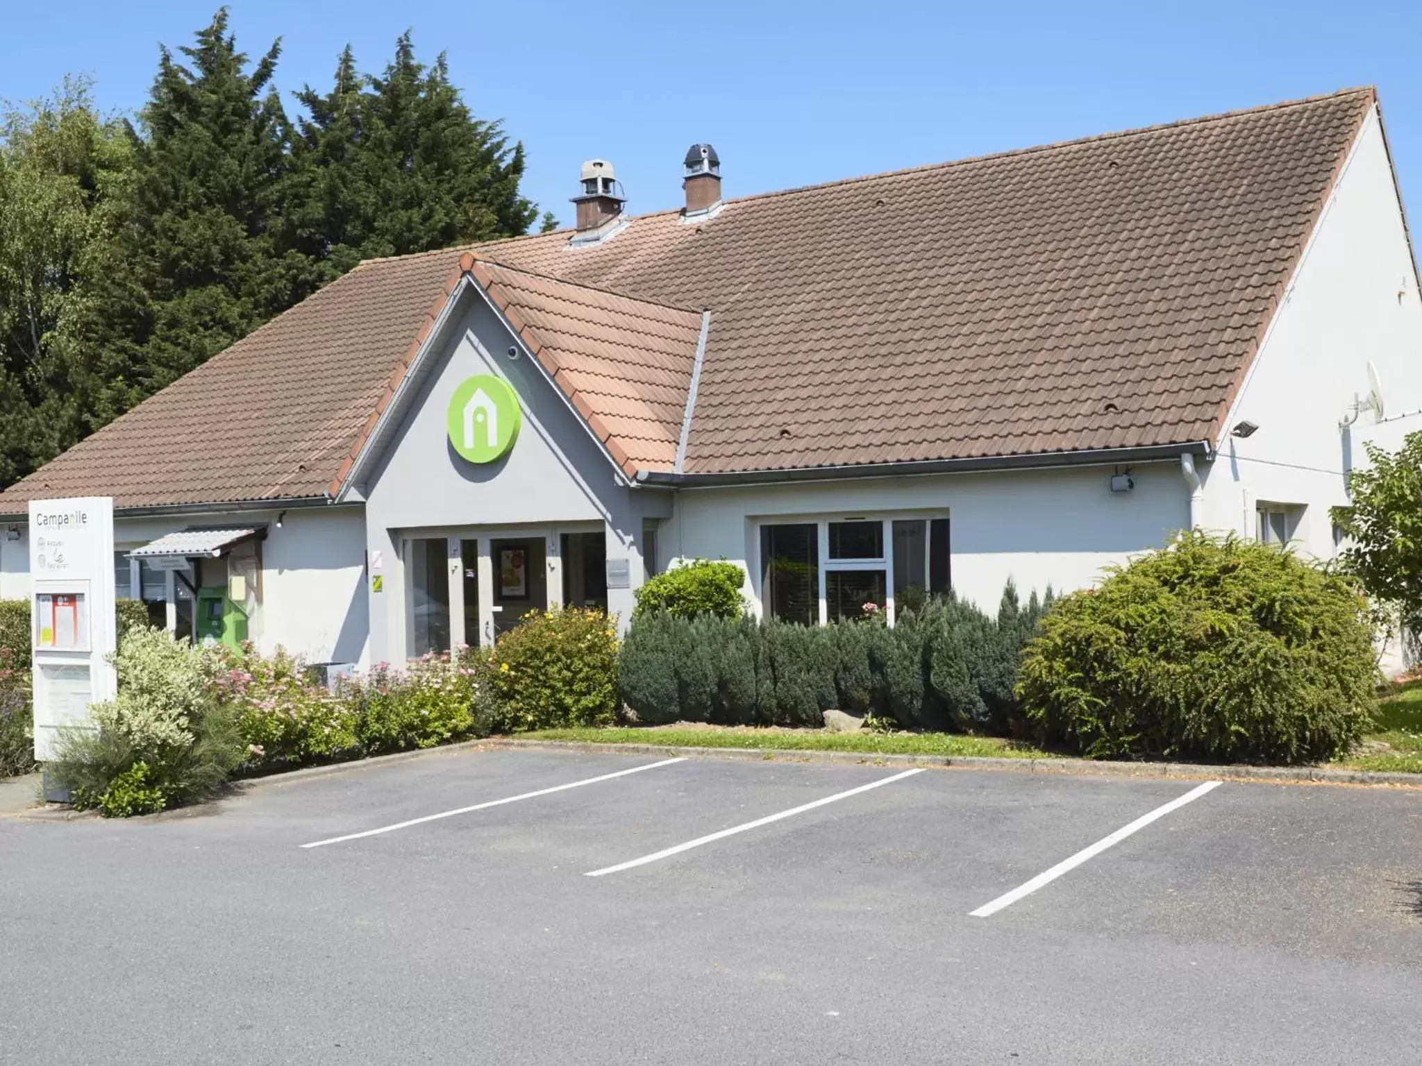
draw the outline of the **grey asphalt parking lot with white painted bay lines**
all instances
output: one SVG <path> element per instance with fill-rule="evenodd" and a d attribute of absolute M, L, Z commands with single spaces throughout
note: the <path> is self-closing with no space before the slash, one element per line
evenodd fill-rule
<path fill-rule="evenodd" d="M 0 820 L 0 928 L 27 1066 L 1411 1065 L 1422 792 L 452 750 Z"/>

